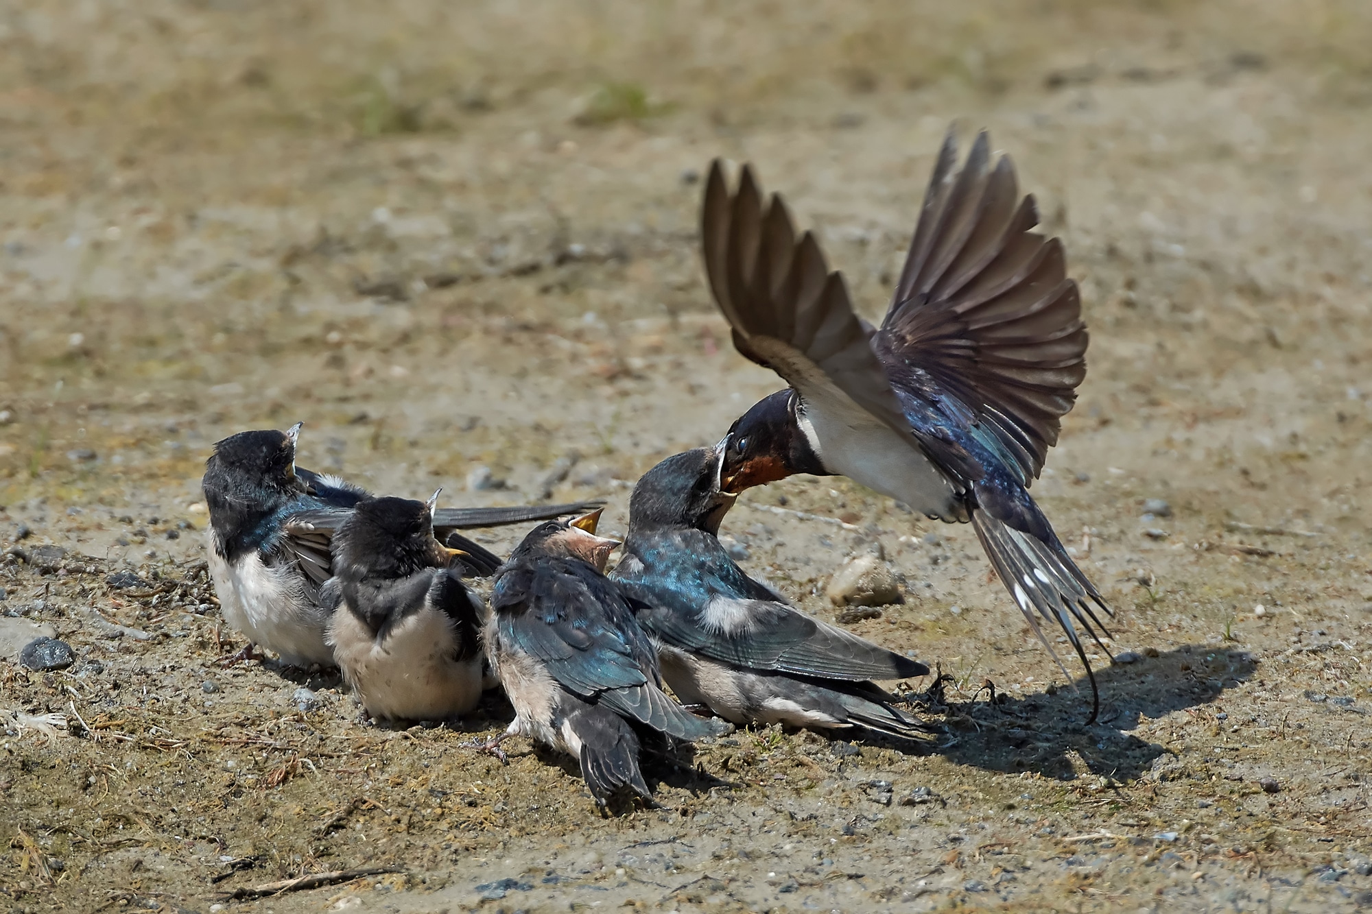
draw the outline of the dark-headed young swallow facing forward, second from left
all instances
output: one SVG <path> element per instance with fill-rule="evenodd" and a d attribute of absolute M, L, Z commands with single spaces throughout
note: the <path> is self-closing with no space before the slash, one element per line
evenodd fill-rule
<path fill-rule="evenodd" d="M 482 697 L 486 608 L 434 538 L 436 500 L 364 498 L 333 534 L 325 642 L 373 718 L 442 720 Z"/>

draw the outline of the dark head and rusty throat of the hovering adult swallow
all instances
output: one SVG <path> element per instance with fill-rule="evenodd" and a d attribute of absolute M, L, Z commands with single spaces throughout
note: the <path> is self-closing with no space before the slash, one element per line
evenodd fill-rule
<path fill-rule="evenodd" d="M 720 442 L 723 490 L 737 494 L 794 473 L 829 475 L 808 430 L 804 403 L 792 388 L 753 403 Z"/>

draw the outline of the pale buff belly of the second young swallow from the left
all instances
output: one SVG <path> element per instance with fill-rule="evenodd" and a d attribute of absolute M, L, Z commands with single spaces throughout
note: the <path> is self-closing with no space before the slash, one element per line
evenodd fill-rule
<path fill-rule="evenodd" d="M 454 660 L 453 620 L 421 609 L 392 627 L 383 644 L 347 607 L 329 622 L 329 644 L 343 678 L 373 718 L 443 720 L 482 697 L 482 657 Z"/>

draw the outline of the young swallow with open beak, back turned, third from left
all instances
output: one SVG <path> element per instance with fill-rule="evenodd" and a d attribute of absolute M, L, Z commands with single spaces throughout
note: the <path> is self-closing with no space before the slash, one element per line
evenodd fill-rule
<path fill-rule="evenodd" d="M 679 740 L 716 730 L 663 692 L 652 641 L 605 578 L 619 542 L 595 535 L 598 517 L 538 526 L 495 574 L 486 652 L 514 720 L 482 748 L 501 755 L 502 740 L 524 736 L 567 752 L 604 808 L 624 788 L 652 801 L 635 727 Z"/>

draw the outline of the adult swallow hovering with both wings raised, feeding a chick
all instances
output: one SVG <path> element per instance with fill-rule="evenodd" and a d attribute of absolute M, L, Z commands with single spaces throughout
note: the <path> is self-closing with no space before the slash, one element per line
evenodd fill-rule
<path fill-rule="evenodd" d="M 1054 660 L 1034 613 L 1066 633 L 1093 720 L 1077 626 L 1100 644 L 1095 611 L 1110 608 L 1029 497 L 1085 377 L 1081 302 L 1062 244 L 1030 231 L 1037 209 L 1010 159 L 992 166 L 985 133 L 960 170 L 956 159 L 949 133 L 879 329 L 781 198 L 764 202 L 748 166 L 730 192 L 713 163 L 701 215 L 711 291 L 738 351 L 790 384 L 730 428 L 724 489 L 844 475 L 929 517 L 970 520 Z"/>

